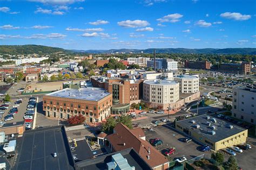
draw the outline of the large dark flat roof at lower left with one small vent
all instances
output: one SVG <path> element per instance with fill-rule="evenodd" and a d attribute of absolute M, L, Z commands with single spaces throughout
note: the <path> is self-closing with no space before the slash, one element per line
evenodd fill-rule
<path fill-rule="evenodd" d="M 14 170 L 75 169 L 64 126 L 25 131 L 17 138 L 15 160 Z"/>

